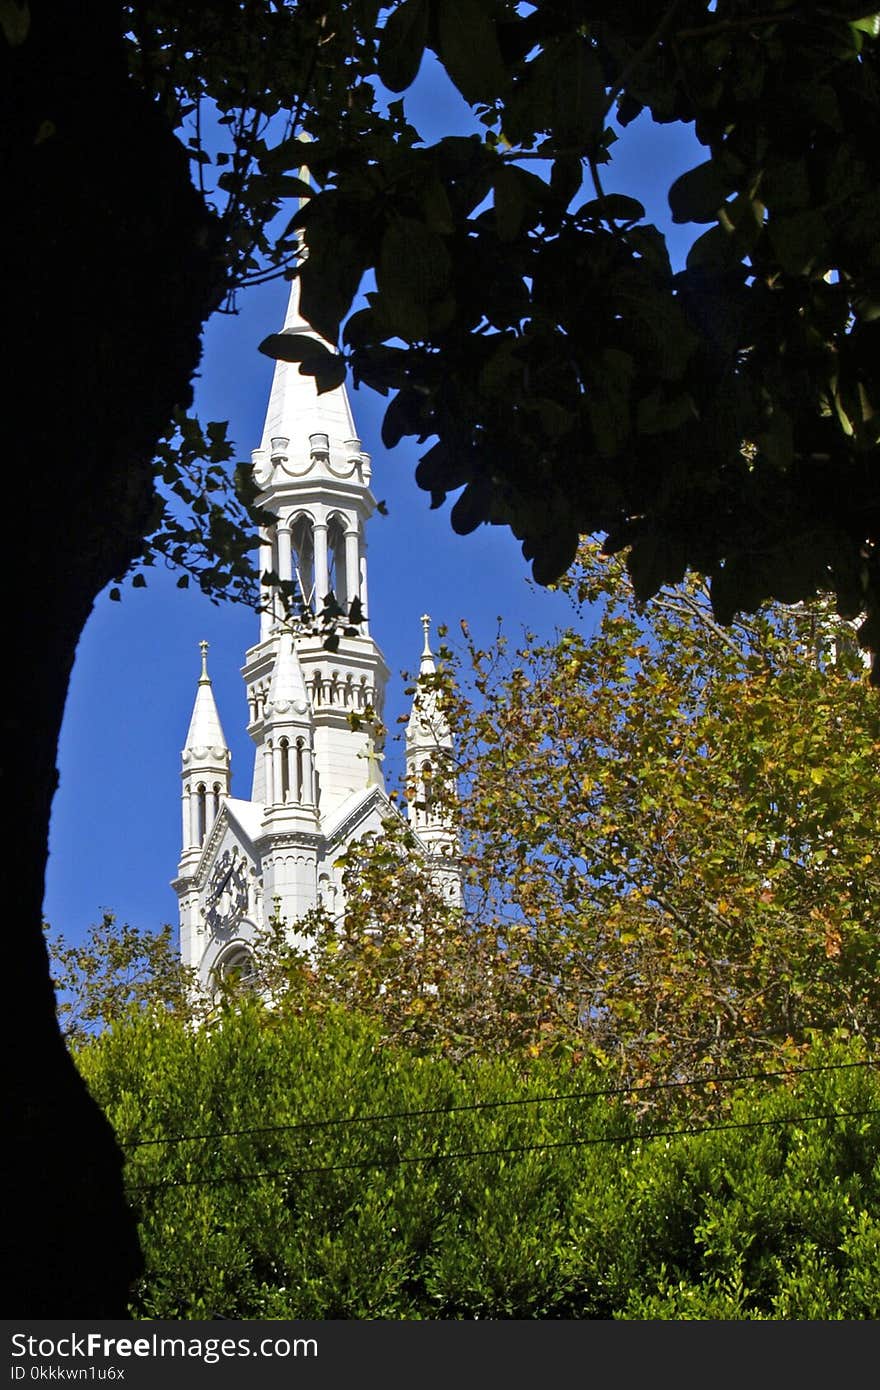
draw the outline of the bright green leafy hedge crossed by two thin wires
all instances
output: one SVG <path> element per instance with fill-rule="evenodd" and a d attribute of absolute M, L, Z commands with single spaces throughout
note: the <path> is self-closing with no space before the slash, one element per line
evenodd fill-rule
<path fill-rule="evenodd" d="M 452 1066 L 342 1015 L 132 1019 L 79 1063 L 129 1145 L 135 1316 L 880 1314 L 880 1084 L 856 1044 L 662 1112 L 573 1097 L 608 1073 Z"/>

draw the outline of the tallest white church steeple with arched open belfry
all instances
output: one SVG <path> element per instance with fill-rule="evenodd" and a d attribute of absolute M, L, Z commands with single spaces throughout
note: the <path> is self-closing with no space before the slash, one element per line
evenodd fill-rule
<path fill-rule="evenodd" d="M 285 329 L 317 336 L 299 313 L 298 281 Z M 268 787 L 266 698 L 279 635 L 288 628 L 311 709 L 316 802 L 327 817 L 364 785 L 359 758 L 373 745 L 370 714 L 381 719 L 388 680 L 367 620 L 366 525 L 375 510 L 370 457 L 356 435 L 345 386 L 318 395 L 314 377 L 300 373 L 296 363 L 278 361 L 253 470 L 260 506 L 278 518 L 261 535 L 261 571 L 277 575 L 292 592 L 291 612 L 285 612 L 278 585 L 264 587 L 260 644 L 247 653 L 243 671 L 257 745 L 253 796 L 264 798 Z M 345 614 L 357 599 L 355 616 L 361 617 L 349 624 L 356 635 L 341 635 L 332 653 L 320 624 L 310 631 L 307 623 L 296 621 L 300 606 L 317 619 L 328 595 Z M 353 730 L 352 714 L 361 720 L 360 730 Z"/>

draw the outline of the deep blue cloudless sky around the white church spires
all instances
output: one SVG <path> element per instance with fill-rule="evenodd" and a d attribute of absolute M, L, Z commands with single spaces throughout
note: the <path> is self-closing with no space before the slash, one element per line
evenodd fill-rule
<path fill-rule="evenodd" d="M 410 104 L 412 103 L 412 104 Z M 466 113 L 435 75 L 407 99 L 407 113 L 425 133 L 464 129 Z M 421 124 L 420 124 L 421 122 Z M 665 225 L 666 189 L 701 158 L 688 131 L 656 126 L 644 117 L 623 132 L 605 175 L 606 192 L 627 192 Z M 678 259 L 691 236 L 674 229 Z M 236 457 L 260 443 L 272 364 L 257 345 L 281 327 L 288 286 L 278 281 L 241 296 L 235 317 L 207 327 L 196 389 L 203 421 L 228 420 Z M 519 635 L 541 635 L 569 621 L 559 595 L 535 589 L 519 543 L 503 530 L 481 527 L 456 537 L 449 503 L 430 510 L 414 482 L 420 449 L 380 442 L 385 402 L 350 391 L 355 420 L 373 456 L 373 491 L 389 514 L 367 531 L 371 631 L 391 667 L 386 723 L 386 783 L 400 774 L 393 734 L 407 709 L 402 669 L 414 669 L 421 648 L 420 614 L 428 612 L 455 635 L 467 619 L 489 641 L 498 617 Z M 175 588 L 175 575 L 154 570 L 146 589 L 124 589 L 121 603 L 99 598 L 79 642 L 58 756 L 44 915 L 68 940 L 81 940 L 107 908 L 122 922 L 158 929 L 177 922 L 170 880 L 181 849 L 179 756 L 199 677 L 199 642 L 210 644 L 209 669 L 232 749 L 234 795 L 250 794 L 253 745 L 245 733 L 245 651 L 257 639 L 256 613 L 239 605 L 211 605 Z"/>

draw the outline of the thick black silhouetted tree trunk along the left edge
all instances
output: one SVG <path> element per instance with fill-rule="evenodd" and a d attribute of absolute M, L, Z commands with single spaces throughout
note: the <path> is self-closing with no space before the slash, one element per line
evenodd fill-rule
<path fill-rule="evenodd" d="M 121 1152 L 56 1022 L 42 933 L 49 816 L 76 642 L 149 530 L 154 446 L 190 402 L 221 271 L 186 157 L 128 76 L 120 6 L 32 0 L 24 38 L 6 17 L 4 28 L 3 746 L 15 817 L 4 1308 L 121 1318 L 140 1252 Z"/>

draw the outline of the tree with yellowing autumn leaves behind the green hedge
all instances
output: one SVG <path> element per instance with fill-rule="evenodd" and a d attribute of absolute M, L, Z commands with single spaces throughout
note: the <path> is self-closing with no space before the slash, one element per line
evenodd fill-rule
<path fill-rule="evenodd" d="M 393 1037 L 630 1079 L 873 1038 L 880 723 L 851 630 L 780 609 L 722 630 L 696 582 L 641 609 L 595 546 L 566 587 L 578 628 L 470 644 L 437 677 L 464 912 L 389 826 L 345 856 L 318 992 Z"/>

